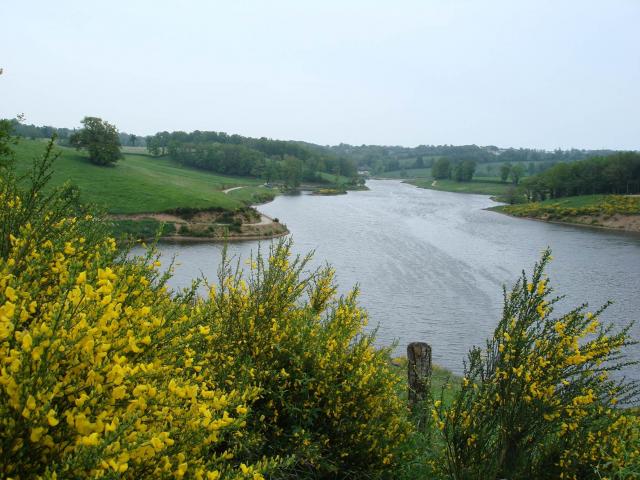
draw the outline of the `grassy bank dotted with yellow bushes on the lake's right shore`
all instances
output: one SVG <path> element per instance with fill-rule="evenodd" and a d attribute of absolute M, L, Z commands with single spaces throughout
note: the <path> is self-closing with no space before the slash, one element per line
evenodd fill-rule
<path fill-rule="evenodd" d="M 583 195 L 521 205 L 503 205 L 492 210 L 514 217 L 589 225 L 640 232 L 640 197 Z"/>

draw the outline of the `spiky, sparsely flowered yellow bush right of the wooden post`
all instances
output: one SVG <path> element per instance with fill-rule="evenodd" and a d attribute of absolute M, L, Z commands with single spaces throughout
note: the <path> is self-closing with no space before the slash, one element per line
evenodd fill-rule
<path fill-rule="evenodd" d="M 451 478 L 598 478 L 640 462 L 637 417 L 615 408 L 637 400 L 636 384 L 614 378 L 629 365 L 629 327 L 603 326 L 604 307 L 552 318 L 549 259 L 505 291 L 502 320 L 486 350 L 470 352 L 462 389 L 450 406 L 434 404 Z"/>

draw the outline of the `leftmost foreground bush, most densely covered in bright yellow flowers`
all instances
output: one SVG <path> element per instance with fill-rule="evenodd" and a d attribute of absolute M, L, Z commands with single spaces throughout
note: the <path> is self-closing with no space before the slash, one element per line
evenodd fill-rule
<path fill-rule="evenodd" d="M 65 191 L 0 182 L 0 476 L 263 478 L 280 461 L 242 445 L 258 389 L 176 362 L 193 292 L 119 256 Z"/>

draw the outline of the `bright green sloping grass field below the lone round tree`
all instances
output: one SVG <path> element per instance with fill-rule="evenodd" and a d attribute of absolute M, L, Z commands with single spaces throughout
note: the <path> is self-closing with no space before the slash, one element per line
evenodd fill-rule
<path fill-rule="evenodd" d="M 16 146 L 16 168 L 24 173 L 46 143 L 21 140 Z M 110 213 L 161 212 L 178 207 L 235 209 L 272 198 L 274 192 L 262 181 L 227 177 L 183 167 L 168 158 L 125 154 L 115 167 L 91 164 L 86 154 L 56 147 L 52 185 L 70 181 L 80 189 L 81 200 Z M 225 194 L 222 190 L 243 186 Z"/>

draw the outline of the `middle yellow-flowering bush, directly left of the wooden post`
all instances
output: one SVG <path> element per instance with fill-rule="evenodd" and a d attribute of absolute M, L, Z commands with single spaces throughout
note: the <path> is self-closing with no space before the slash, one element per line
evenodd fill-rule
<path fill-rule="evenodd" d="M 307 272 L 309 257 L 292 258 L 290 247 L 272 246 L 245 274 L 225 262 L 198 304 L 206 327 L 185 361 L 214 383 L 260 389 L 247 419 L 260 438 L 252 448 L 293 455 L 296 476 L 383 471 L 410 429 L 401 380 L 362 333 L 357 291 L 337 297 L 331 268 Z"/>

